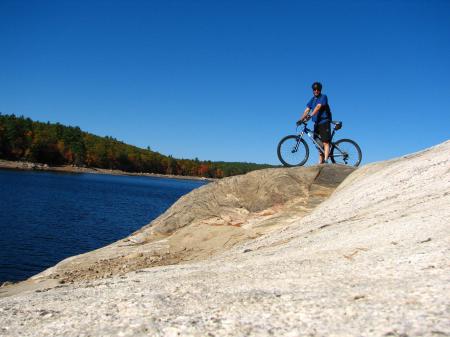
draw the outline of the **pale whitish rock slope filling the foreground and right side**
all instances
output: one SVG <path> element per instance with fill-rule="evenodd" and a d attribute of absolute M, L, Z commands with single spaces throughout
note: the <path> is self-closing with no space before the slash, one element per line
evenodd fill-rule
<path fill-rule="evenodd" d="M 450 336 L 450 141 L 211 259 L 0 299 L 0 336 Z"/>

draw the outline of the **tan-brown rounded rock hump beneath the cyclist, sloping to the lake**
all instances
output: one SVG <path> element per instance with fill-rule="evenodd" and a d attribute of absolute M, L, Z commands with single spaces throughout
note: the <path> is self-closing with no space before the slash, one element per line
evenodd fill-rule
<path fill-rule="evenodd" d="M 343 165 L 273 168 L 209 183 L 128 238 L 32 279 L 71 282 L 211 257 L 305 216 L 353 171 Z"/>

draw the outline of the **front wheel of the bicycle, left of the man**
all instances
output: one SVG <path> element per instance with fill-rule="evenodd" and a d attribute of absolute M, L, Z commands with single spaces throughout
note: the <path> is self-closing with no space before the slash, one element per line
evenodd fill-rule
<path fill-rule="evenodd" d="M 277 154 L 284 166 L 302 166 L 309 157 L 308 144 L 298 136 L 286 136 L 278 143 Z"/>

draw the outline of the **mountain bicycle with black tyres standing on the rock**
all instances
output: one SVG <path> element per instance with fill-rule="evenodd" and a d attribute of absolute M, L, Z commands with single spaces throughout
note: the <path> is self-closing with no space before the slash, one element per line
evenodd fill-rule
<path fill-rule="evenodd" d="M 342 122 L 332 121 L 331 124 L 333 124 L 334 127 L 333 132 L 331 133 L 329 159 L 332 163 L 358 166 L 361 163 L 362 158 L 361 148 L 351 139 L 340 139 L 333 142 L 334 134 L 337 130 L 342 128 Z M 320 136 L 314 134 L 304 121 L 301 121 L 300 124 L 297 125 L 296 132 L 298 132 L 298 126 L 303 126 L 303 130 L 301 130 L 298 135 L 286 136 L 278 143 L 278 159 L 284 166 L 302 166 L 308 160 L 309 147 L 303 139 L 304 135 L 307 135 L 311 139 L 317 150 L 323 155 L 325 154 Z"/>

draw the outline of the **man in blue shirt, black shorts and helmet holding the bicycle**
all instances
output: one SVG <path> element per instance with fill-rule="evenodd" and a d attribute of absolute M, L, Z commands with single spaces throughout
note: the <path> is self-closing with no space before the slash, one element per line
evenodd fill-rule
<path fill-rule="evenodd" d="M 320 136 L 320 140 L 323 143 L 324 154 L 319 151 L 319 164 L 326 163 L 328 155 L 330 154 L 330 141 L 331 141 L 331 111 L 328 105 L 327 95 L 322 94 L 322 84 L 320 82 L 314 82 L 312 85 L 313 98 L 311 98 L 306 104 L 306 109 L 303 112 L 302 118 L 297 122 L 307 122 L 312 117 L 314 122 L 314 137 L 317 140 L 317 136 Z M 311 112 L 312 111 L 312 112 Z M 311 112 L 311 113 L 310 113 Z"/>

